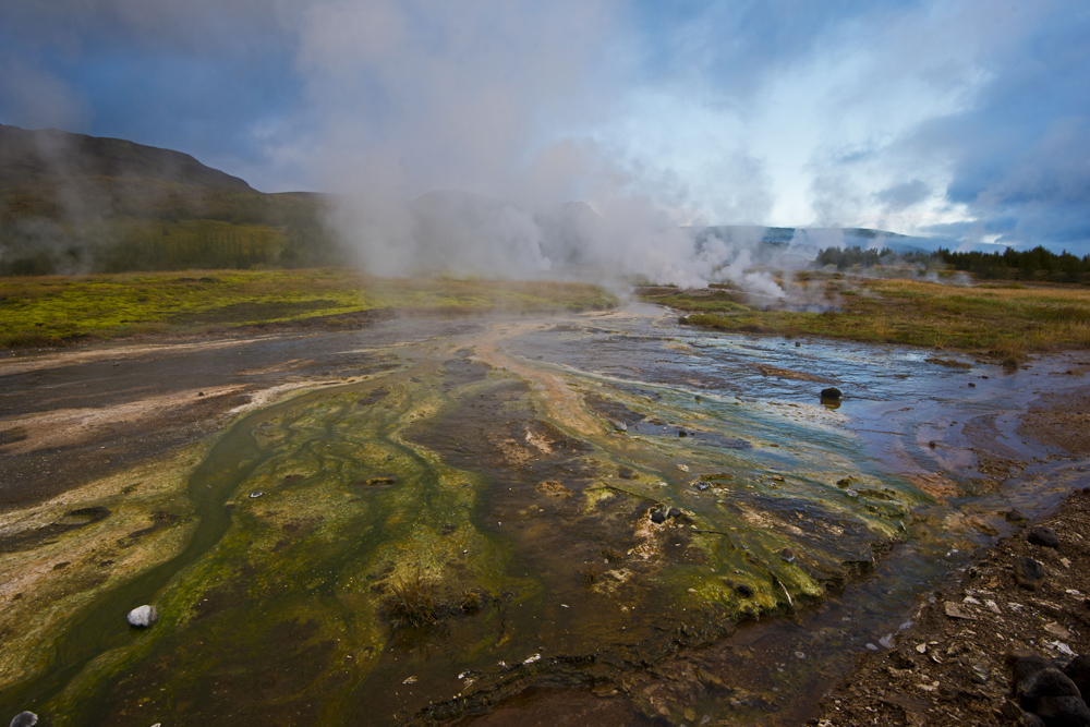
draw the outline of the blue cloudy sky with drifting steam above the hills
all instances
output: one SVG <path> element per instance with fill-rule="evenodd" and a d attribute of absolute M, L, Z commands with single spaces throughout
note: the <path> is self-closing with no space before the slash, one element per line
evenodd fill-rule
<path fill-rule="evenodd" d="M 1085 0 L 0 3 L 0 123 L 265 192 L 1090 254 Z"/>

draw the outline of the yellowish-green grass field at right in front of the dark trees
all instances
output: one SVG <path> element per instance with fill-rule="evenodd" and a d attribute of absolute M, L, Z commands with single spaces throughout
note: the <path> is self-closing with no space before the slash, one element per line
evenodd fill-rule
<path fill-rule="evenodd" d="M 1029 353 L 1090 348 L 1090 289 L 1079 286 L 956 287 L 909 279 L 810 276 L 829 310 L 739 306 L 708 312 L 707 299 L 651 298 L 692 311 L 692 325 L 787 337 L 818 336 L 966 351 L 1018 362 Z M 737 294 L 734 300 L 741 299 Z"/>

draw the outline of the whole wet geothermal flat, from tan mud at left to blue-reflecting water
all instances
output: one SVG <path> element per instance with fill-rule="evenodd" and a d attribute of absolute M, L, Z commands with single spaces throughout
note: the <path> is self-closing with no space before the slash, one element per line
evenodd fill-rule
<path fill-rule="evenodd" d="M 640 305 L 12 356 L 0 707 L 801 724 L 1086 481 L 1022 423 L 1078 356 L 934 356 Z"/>

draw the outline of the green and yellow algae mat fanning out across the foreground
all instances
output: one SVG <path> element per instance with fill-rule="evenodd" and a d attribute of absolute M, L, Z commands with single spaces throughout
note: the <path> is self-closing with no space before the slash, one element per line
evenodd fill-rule
<path fill-rule="evenodd" d="M 912 537 L 929 498 L 824 419 L 507 353 L 528 326 L 402 347 L 238 421 L 185 484 L 187 540 L 82 604 L 0 705 L 441 723 L 608 683 Z M 124 622 L 142 603 L 160 614 L 143 631 Z"/>

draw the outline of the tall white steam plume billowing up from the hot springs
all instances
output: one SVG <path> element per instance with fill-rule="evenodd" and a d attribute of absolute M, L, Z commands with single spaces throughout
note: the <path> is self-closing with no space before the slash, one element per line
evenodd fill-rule
<path fill-rule="evenodd" d="M 337 195 L 330 222 L 361 266 L 730 280 L 784 295 L 749 270 L 760 237 L 698 244 L 682 227 L 700 221 L 683 190 L 578 132 L 620 102 L 598 90 L 625 72 L 610 10 L 604 0 L 310 7 L 299 65 L 324 128 L 314 175 Z"/>

